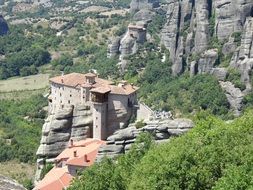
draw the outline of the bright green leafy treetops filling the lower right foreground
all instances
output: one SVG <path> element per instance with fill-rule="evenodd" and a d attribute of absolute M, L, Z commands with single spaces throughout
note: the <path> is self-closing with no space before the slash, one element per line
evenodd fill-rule
<path fill-rule="evenodd" d="M 187 134 L 94 165 L 70 189 L 252 188 L 252 114 L 227 123 L 202 112 Z"/>

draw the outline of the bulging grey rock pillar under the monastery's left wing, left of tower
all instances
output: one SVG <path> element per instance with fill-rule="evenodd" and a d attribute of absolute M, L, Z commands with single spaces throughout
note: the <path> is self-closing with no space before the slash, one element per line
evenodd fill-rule
<path fill-rule="evenodd" d="M 53 158 L 62 152 L 70 139 L 91 137 L 92 112 L 87 105 L 59 110 L 48 116 L 42 128 L 37 156 Z"/>

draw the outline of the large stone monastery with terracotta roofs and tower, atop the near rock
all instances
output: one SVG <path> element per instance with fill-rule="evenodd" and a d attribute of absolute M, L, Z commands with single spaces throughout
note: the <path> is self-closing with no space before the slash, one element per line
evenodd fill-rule
<path fill-rule="evenodd" d="M 137 104 L 136 86 L 126 81 L 114 85 L 96 74 L 71 73 L 50 79 L 49 113 L 78 104 L 93 111 L 93 138 L 105 140 L 124 127 Z"/>

